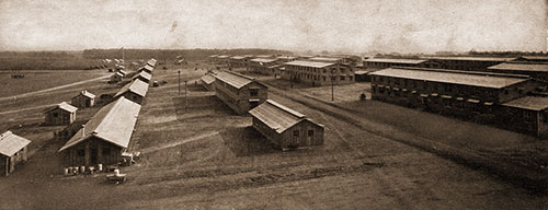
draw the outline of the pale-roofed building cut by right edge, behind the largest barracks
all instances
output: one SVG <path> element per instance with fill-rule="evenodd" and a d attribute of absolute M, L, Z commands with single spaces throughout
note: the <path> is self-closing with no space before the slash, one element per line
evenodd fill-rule
<path fill-rule="evenodd" d="M 487 71 L 496 73 L 524 74 L 539 80 L 548 81 L 548 62 L 503 62 L 487 68 Z"/>

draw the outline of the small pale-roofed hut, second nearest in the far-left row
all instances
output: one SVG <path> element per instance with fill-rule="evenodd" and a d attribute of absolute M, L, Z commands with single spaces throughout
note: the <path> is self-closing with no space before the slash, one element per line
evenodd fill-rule
<path fill-rule="evenodd" d="M 49 126 L 69 125 L 76 120 L 77 107 L 62 102 L 44 112 L 45 124 Z"/>

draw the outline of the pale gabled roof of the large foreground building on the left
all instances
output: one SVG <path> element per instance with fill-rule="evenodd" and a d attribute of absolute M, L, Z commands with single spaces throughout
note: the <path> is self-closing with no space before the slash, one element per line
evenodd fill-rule
<path fill-rule="evenodd" d="M 103 106 L 85 126 L 62 145 L 64 151 L 90 137 L 96 137 L 104 141 L 114 143 L 121 148 L 127 148 L 132 133 L 139 115 L 140 105 L 125 97 Z"/>

